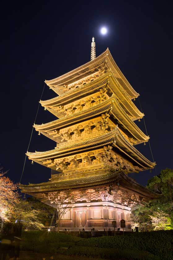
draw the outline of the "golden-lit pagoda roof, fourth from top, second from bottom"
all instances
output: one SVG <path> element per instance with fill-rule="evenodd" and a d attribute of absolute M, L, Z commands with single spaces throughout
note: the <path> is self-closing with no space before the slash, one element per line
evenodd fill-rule
<path fill-rule="evenodd" d="M 93 150 L 106 145 L 112 145 L 114 149 L 118 151 L 118 153 L 123 153 L 123 156 L 128 157 L 128 160 L 131 160 L 132 163 L 140 168 L 140 170 L 154 168 L 154 166 L 156 165 L 155 163 L 152 163 L 147 158 L 145 158 L 144 155 L 142 155 L 134 146 L 132 146 L 130 142 L 119 131 L 118 127 L 105 135 L 95 137 L 93 139 L 81 141 L 79 143 L 67 146 L 61 146 L 54 150 L 49 150 L 45 152 L 27 152 L 26 155 L 29 157 L 29 159 L 43 165 L 44 160 L 47 159 L 62 158 L 76 152 L 81 153 L 86 150 Z M 52 168 L 56 169 L 54 168 L 54 166 Z"/>

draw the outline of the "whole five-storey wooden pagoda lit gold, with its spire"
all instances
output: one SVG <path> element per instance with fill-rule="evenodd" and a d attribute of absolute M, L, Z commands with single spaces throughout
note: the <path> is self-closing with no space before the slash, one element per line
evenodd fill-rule
<path fill-rule="evenodd" d="M 139 94 L 109 49 L 96 58 L 93 47 L 95 43 L 90 62 L 45 81 L 58 96 L 40 103 L 58 119 L 34 128 L 54 140 L 55 149 L 27 156 L 54 174 L 46 183 L 20 188 L 54 207 L 52 194 L 70 190 L 74 201 L 60 229 L 111 230 L 112 221 L 119 228 L 124 219 L 128 231 L 132 205 L 156 197 L 128 173 L 154 168 L 155 163 L 135 147 L 149 140 L 135 124 L 144 116 L 132 102 Z"/>

